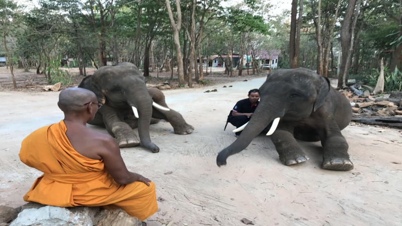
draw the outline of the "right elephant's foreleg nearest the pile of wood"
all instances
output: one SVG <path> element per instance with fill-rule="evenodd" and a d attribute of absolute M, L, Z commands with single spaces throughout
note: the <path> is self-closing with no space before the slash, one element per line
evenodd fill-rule
<path fill-rule="evenodd" d="M 322 139 L 324 147 L 322 168 L 327 170 L 347 171 L 353 169 L 353 163 L 349 159 L 349 145 L 341 132 L 336 132 L 330 137 Z"/>

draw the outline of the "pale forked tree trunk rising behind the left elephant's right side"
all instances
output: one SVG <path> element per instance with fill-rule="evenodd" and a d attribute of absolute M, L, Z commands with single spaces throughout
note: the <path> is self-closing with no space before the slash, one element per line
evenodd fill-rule
<path fill-rule="evenodd" d="M 184 84 L 184 74 L 183 74 L 183 59 L 181 57 L 181 48 L 180 48 L 180 39 L 179 39 L 179 32 L 181 28 L 181 10 L 180 10 L 180 1 L 176 0 L 176 9 L 177 9 L 177 25 L 173 19 L 172 9 L 170 8 L 169 0 L 165 0 L 166 9 L 169 13 L 169 20 L 170 25 L 172 26 L 173 30 L 173 41 L 176 47 L 176 58 L 177 58 L 177 73 L 179 78 L 179 85 Z"/>

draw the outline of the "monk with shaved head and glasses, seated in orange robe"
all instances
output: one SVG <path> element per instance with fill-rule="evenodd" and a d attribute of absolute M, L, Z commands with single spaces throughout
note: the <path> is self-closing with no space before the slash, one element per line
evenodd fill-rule
<path fill-rule="evenodd" d="M 109 134 L 86 127 L 102 106 L 95 94 L 67 88 L 57 104 L 64 120 L 34 131 L 22 142 L 21 161 L 44 173 L 24 200 L 61 207 L 121 208 L 140 220 L 155 213 L 154 183 L 128 171 Z"/>

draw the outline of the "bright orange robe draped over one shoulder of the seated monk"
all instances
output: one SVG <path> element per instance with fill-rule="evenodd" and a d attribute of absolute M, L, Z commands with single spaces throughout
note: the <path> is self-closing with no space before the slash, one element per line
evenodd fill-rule
<path fill-rule="evenodd" d="M 141 220 L 158 210 L 154 183 L 116 183 L 102 160 L 74 150 L 66 131 L 64 121 L 60 121 L 34 131 L 22 142 L 21 161 L 44 173 L 24 196 L 25 201 L 61 207 L 122 208 Z"/>

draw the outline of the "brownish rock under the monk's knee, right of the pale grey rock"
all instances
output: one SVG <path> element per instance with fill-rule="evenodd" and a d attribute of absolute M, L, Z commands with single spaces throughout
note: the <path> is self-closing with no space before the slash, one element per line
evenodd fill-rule
<path fill-rule="evenodd" d="M 122 209 L 103 209 L 95 216 L 96 226 L 141 226 L 142 222 L 137 217 L 132 217 Z"/>

